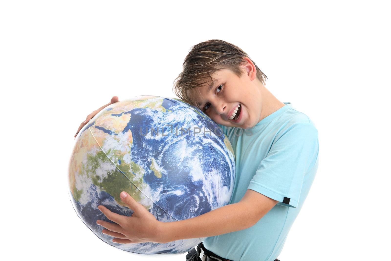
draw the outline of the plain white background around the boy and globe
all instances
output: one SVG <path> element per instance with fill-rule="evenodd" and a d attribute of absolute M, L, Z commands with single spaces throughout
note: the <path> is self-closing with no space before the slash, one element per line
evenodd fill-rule
<path fill-rule="evenodd" d="M 221 39 L 319 131 L 317 176 L 279 259 L 389 258 L 390 9 L 270 2 L 1 2 L 2 254 L 184 261 L 97 238 L 69 200 L 67 167 L 91 111 L 114 95 L 175 97 L 190 47 Z"/>

